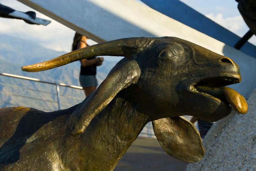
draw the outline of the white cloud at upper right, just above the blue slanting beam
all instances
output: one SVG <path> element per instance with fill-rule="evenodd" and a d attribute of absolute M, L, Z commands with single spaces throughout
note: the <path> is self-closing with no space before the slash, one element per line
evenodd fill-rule
<path fill-rule="evenodd" d="M 222 13 L 218 13 L 218 14 L 211 13 L 211 14 L 206 14 L 205 16 L 213 20 L 214 22 L 218 23 L 219 25 L 227 28 L 231 32 L 234 32 L 242 36 L 241 34 L 243 33 L 241 33 L 241 30 L 243 30 L 244 20 L 241 15 L 224 18 Z"/>

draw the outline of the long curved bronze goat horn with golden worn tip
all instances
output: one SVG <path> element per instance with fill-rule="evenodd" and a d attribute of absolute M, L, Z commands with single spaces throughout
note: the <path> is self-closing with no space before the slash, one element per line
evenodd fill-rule
<path fill-rule="evenodd" d="M 130 57 L 152 44 L 154 38 L 125 38 L 108 41 L 59 56 L 49 61 L 23 66 L 22 71 L 37 72 L 50 70 L 71 62 L 87 59 L 94 56 L 124 56 Z"/>

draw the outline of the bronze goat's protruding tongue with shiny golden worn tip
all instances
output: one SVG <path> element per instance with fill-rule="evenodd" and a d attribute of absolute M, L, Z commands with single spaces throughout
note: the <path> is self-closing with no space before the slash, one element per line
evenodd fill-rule
<path fill-rule="evenodd" d="M 196 89 L 200 92 L 210 94 L 219 99 L 226 99 L 228 103 L 234 108 L 237 112 L 245 114 L 248 110 L 248 105 L 244 97 L 237 93 L 235 90 L 229 87 L 205 87 L 205 86 L 196 86 Z"/>

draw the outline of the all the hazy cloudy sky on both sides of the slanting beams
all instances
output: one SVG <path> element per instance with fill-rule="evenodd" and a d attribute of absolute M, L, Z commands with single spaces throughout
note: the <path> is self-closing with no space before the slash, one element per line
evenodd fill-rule
<path fill-rule="evenodd" d="M 239 36 L 249 28 L 244 23 L 235 0 L 181 0 L 208 18 Z M 1 4 L 19 11 L 35 11 L 16 0 L 0 0 Z M 29 25 L 23 20 L 0 18 L 0 33 L 35 41 L 46 48 L 68 52 L 75 31 L 36 11 L 36 16 L 51 20 L 48 26 Z M 256 45 L 255 36 L 250 40 Z"/>

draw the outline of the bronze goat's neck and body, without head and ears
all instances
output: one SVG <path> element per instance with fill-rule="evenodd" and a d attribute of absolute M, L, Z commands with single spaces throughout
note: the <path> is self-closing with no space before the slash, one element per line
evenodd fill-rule
<path fill-rule="evenodd" d="M 73 136 L 66 123 L 75 109 L 2 108 L 0 170 L 113 170 L 148 122 L 147 115 L 116 97 L 93 126 Z"/>

